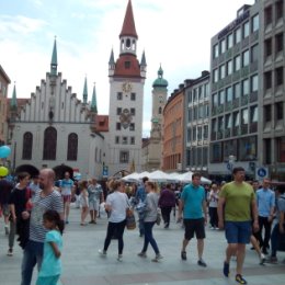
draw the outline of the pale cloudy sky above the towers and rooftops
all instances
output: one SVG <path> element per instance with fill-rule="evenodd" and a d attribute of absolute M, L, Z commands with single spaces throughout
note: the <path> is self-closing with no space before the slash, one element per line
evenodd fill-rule
<path fill-rule="evenodd" d="M 31 98 L 50 69 L 57 39 L 57 70 L 82 100 L 84 77 L 91 101 L 95 82 L 99 114 L 109 113 L 109 59 L 118 57 L 128 0 L 0 0 L 0 65 L 15 82 L 18 98 Z M 210 38 L 254 0 L 132 0 L 138 34 L 137 58 L 145 50 L 144 137 L 149 136 L 152 82 L 163 69 L 170 95 L 185 79 L 209 70 Z"/>

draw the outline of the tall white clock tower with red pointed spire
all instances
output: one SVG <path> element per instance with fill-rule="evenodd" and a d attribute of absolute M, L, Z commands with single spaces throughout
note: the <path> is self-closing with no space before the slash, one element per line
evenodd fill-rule
<path fill-rule="evenodd" d="M 109 61 L 110 109 L 105 166 L 109 175 L 141 170 L 141 137 L 146 56 L 137 59 L 137 32 L 132 1 L 128 0 L 119 33 L 119 56 Z"/>

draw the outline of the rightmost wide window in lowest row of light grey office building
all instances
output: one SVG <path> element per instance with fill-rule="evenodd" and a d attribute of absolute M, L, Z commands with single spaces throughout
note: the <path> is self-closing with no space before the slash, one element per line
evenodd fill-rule
<path fill-rule="evenodd" d="M 239 139 L 239 160 L 255 160 L 258 153 L 256 136 Z"/>

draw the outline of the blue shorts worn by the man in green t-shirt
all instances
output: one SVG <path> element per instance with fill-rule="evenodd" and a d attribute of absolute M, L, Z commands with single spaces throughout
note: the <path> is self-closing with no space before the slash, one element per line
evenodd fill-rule
<path fill-rule="evenodd" d="M 225 231 L 228 243 L 249 243 L 252 232 L 251 220 L 226 221 Z"/>

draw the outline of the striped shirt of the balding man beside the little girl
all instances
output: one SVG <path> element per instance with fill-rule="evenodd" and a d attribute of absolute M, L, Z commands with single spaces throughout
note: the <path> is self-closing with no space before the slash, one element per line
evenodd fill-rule
<path fill-rule="evenodd" d="M 47 230 L 43 226 L 43 215 L 48 209 L 64 213 L 64 205 L 60 194 L 53 191 L 49 195 L 42 197 L 42 191 L 36 192 L 30 220 L 30 240 L 44 242 Z"/>

